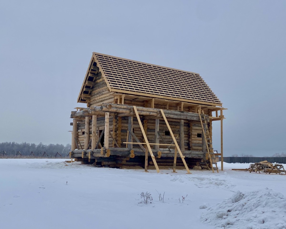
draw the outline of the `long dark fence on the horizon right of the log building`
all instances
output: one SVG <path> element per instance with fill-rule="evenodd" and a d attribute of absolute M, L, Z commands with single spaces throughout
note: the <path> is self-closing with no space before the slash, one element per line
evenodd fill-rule
<path fill-rule="evenodd" d="M 219 158 L 221 161 L 221 158 Z M 227 163 L 255 163 L 268 161 L 286 164 L 286 157 L 223 157 L 223 161 Z"/>

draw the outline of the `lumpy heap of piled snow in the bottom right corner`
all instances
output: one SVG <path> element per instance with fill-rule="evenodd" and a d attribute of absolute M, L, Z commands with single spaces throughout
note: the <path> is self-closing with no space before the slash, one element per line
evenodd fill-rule
<path fill-rule="evenodd" d="M 235 193 L 214 207 L 209 207 L 201 221 L 217 228 L 286 228 L 286 200 L 279 192 L 265 188 L 255 192 Z"/>

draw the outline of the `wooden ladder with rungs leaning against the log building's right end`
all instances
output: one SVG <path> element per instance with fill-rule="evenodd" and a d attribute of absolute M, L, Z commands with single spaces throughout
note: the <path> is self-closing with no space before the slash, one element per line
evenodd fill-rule
<path fill-rule="evenodd" d="M 198 114 L 200 117 L 200 124 L 202 125 L 202 130 L 203 130 L 202 132 L 204 134 L 203 138 L 204 138 L 204 142 L 206 143 L 207 156 L 208 156 L 208 159 L 210 161 L 210 166 L 212 168 L 212 172 L 214 173 L 215 172 L 214 170 L 217 170 L 217 172 L 219 172 L 219 168 L 217 167 L 215 154 L 214 154 L 213 148 L 212 148 L 212 141 L 210 139 L 210 133 L 208 132 L 208 125 L 206 123 L 206 116 L 204 114 L 204 111 L 202 110 L 202 115 L 204 117 L 204 122 L 203 122 L 200 109 L 198 109 Z M 213 167 L 213 165 L 215 165 L 215 168 Z"/>

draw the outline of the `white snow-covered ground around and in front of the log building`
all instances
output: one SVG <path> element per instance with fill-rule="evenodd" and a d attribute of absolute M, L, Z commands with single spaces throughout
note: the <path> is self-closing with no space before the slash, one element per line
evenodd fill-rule
<path fill-rule="evenodd" d="M 157 174 L 64 161 L 0 159 L 0 228 L 286 228 L 286 176 L 231 170 L 249 164 Z"/>

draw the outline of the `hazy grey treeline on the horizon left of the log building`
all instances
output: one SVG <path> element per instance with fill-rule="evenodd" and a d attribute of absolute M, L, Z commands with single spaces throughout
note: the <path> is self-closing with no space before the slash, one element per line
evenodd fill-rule
<path fill-rule="evenodd" d="M 17 142 L 2 142 L 0 143 L 0 156 L 3 155 L 3 152 L 6 152 L 7 155 L 16 155 L 17 152 L 21 152 L 23 156 L 29 156 L 31 152 L 35 156 L 42 156 L 44 152 L 49 156 L 55 155 L 57 152 L 65 157 L 69 151 L 71 151 L 71 144 L 49 144 L 44 145 L 39 143 L 38 145 L 34 143 L 17 143 Z"/>

